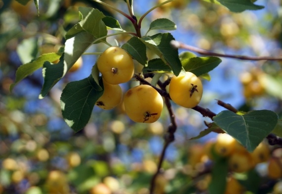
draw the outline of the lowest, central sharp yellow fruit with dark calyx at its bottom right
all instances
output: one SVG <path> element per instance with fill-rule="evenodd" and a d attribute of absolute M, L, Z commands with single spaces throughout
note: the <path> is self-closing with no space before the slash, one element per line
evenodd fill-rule
<path fill-rule="evenodd" d="M 136 86 L 125 93 L 124 108 L 131 120 L 138 123 L 153 123 L 161 115 L 163 98 L 151 86 Z"/>

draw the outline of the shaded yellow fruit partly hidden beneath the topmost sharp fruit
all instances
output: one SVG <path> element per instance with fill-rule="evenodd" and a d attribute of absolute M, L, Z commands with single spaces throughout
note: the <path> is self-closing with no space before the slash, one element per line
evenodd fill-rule
<path fill-rule="evenodd" d="M 104 79 L 103 79 L 104 80 Z M 96 105 L 104 110 L 116 107 L 122 99 L 122 90 L 119 85 L 111 85 L 107 82 L 104 84 L 104 93 L 96 101 Z"/>

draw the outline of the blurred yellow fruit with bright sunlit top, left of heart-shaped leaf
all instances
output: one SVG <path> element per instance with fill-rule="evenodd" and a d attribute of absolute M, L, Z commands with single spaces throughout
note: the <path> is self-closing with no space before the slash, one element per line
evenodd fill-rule
<path fill-rule="evenodd" d="M 228 134 L 218 134 L 214 151 L 223 157 L 229 156 L 235 149 L 236 140 Z"/>

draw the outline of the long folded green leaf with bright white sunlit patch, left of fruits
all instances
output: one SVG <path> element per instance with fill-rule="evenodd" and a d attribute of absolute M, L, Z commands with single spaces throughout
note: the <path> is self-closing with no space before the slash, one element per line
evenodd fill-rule
<path fill-rule="evenodd" d="M 66 41 L 64 54 L 57 64 L 44 63 L 44 84 L 40 98 L 47 95 L 51 88 L 67 73 L 85 50 L 93 44 L 94 40 L 94 37 L 88 32 L 76 34 Z"/>

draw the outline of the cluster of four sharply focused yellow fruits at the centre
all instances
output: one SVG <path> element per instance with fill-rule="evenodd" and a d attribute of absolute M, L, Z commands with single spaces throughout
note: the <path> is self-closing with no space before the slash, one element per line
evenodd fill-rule
<path fill-rule="evenodd" d="M 96 105 L 103 109 L 112 109 L 122 99 L 119 84 L 130 81 L 134 75 L 133 59 L 126 50 L 110 47 L 98 57 L 97 68 L 102 74 L 104 93 L 96 101 Z M 201 80 L 191 72 L 171 79 L 169 94 L 176 104 L 192 108 L 200 102 L 202 93 Z M 136 86 L 125 93 L 124 108 L 133 121 L 153 123 L 160 117 L 163 98 L 152 86 Z"/>

